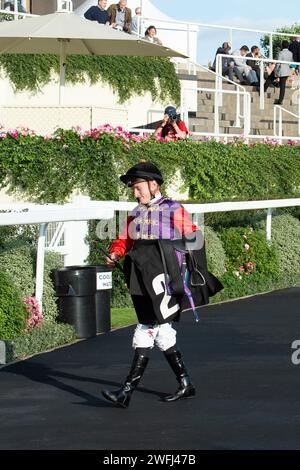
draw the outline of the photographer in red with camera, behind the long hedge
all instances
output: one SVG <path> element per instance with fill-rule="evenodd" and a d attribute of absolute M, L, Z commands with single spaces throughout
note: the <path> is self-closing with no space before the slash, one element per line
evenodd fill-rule
<path fill-rule="evenodd" d="M 160 137 L 166 140 L 183 140 L 189 134 L 183 121 L 177 119 L 176 108 L 167 106 L 163 120 L 158 124 L 154 137 Z"/>

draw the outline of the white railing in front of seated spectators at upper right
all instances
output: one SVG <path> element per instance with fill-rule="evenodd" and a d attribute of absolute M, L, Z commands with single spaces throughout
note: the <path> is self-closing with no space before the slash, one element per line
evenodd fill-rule
<path fill-rule="evenodd" d="M 259 81 L 259 89 L 260 89 L 260 98 L 259 98 L 259 107 L 260 109 L 265 109 L 265 96 L 264 96 L 264 63 L 270 63 L 270 59 L 267 59 L 265 57 L 263 58 L 254 58 L 254 57 L 246 57 L 246 56 L 235 56 L 235 55 L 229 55 L 229 54 L 218 54 L 217 55 L 217 60 L 216 60 L 216 71 L 218 76 L 222 74 L 222 58 L 227 58 L 229 60 L 233 59 L 244 59 L 245 60 L 245 65 L 248 65 L 249 61 L 255 61 L 260 63 L 260 81 Z M 287 65 L 299 65 L 300 62 L 288 62 L 286 60 L 277 60 L 277 59 L 272 59 L 272 64 L 287 64 Z M 299 85 L 300 86 L 300 85 Z M 218 77 L 216 77 L 216 88 L 222 89 L 222 81 Z"/>

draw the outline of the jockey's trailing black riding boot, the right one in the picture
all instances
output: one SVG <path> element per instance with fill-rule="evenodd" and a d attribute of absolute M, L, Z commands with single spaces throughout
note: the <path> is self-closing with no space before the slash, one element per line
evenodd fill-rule
<path fill-rule="evenodd" d="M 179 382 L 179 388 L 174 395 L 163 398 L 163 401 L 176 401 L 180 398 L 193 397 L 196 393 L 195 387 L 191 382 L 188 371 L 185 367 L 183 359 L 179 351 L 164 352 L 168 363 L 171 366 L 176 378 Z"/>

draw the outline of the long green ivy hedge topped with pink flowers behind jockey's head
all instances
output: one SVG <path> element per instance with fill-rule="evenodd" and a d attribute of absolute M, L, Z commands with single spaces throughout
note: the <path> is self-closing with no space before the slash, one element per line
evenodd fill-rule
<path fill-rule="evenodd" d="M 50 140 L 17 132 L 0 139 L 0 183 L 41 202 L 65 201 L 75 189 L 93 199 L 118 199 L 124 194 L 118 174 L 141 157 L 160 167 L 167 185 L 179 169 L 194 202 L 300 195 L 299 145 L 134 142 L 73 130 Z"/>

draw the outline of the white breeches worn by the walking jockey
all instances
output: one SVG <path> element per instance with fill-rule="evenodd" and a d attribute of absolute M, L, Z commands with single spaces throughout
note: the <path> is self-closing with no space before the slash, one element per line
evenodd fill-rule
<path fill-rule="evenodd" d="M 152 349 L 156 344 L 161 351 L 166 351 L 176 344 L 176 333 L 171 323 L 154 326 L 138 323 L 134 331 L 132 347 Z"/>

